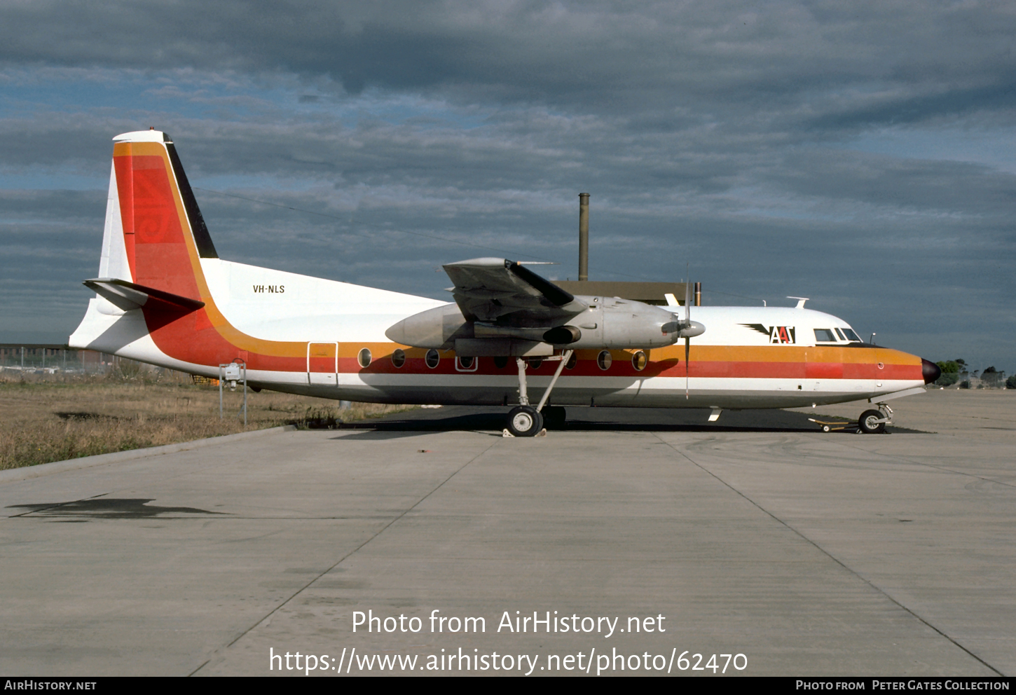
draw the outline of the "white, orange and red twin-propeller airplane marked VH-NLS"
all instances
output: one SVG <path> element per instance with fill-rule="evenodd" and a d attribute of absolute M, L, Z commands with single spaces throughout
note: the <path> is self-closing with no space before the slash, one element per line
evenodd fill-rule
<path fill-rule="evenodd" d="M 255 390 L 515 405 L 516 436 L 560 424 L 563 405 L 709 407 L 714 421 L 861 398 L 880 409 L 859 426 L 877 432 L 886 401 L 939 376 L 804 301 L 695 307 L 693 321 L 687 298 L 682 309 L 673 296 L 661 307 L 572 295 L 502 258 L 445 265 L 453 303 L 221 260 L 170 137 L 114 143 L 99 276 L 84 281 L 97 296 L 72 348 L 208 377 L 242 363 Z"/>

